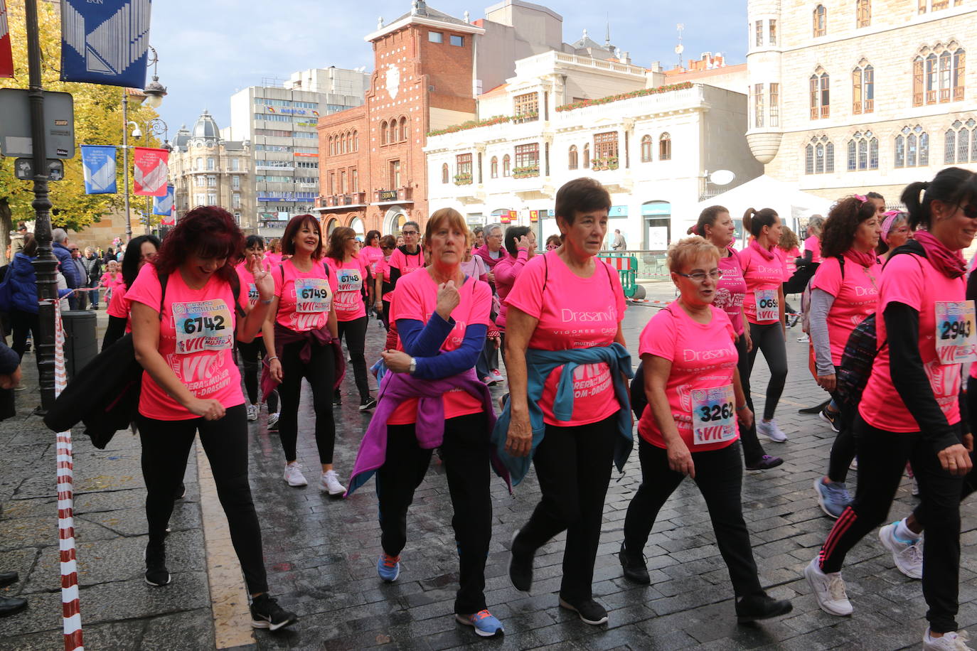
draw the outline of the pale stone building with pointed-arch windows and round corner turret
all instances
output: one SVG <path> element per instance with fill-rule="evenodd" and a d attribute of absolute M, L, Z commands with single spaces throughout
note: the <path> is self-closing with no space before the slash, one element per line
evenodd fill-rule
<path fill-rule="evenodd" d="M 962 0 L 748 0 L 746 138 L 827 199 L 977 162 L 977 8 Z"/>

